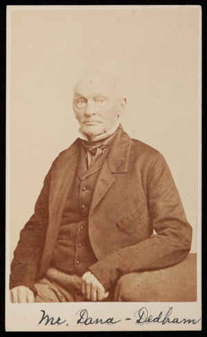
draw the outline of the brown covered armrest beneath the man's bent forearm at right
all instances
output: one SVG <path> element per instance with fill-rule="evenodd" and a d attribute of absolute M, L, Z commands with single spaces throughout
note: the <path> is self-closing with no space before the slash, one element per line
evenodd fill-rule
<path fill-rule="evenodd" d="M 192 254 L 193 255 L 193 254 Z M 117 282 L 117 302 L 194 302 L 197 300 L 196 257 L 159 269 L 129 273 Z"/>

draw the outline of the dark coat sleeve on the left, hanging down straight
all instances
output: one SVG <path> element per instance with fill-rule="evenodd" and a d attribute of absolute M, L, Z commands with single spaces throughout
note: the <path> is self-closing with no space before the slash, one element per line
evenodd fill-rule
<path fill-rule="evenodd" d="M 34 207 L 34 215 L 21 230 L 11 264 L 10 289 L 14 286 L 24 285 L 36 294 L 34 282 L 41 262 L 48 228 L 51 170 L 44 180 L 43 188 Z"/>

